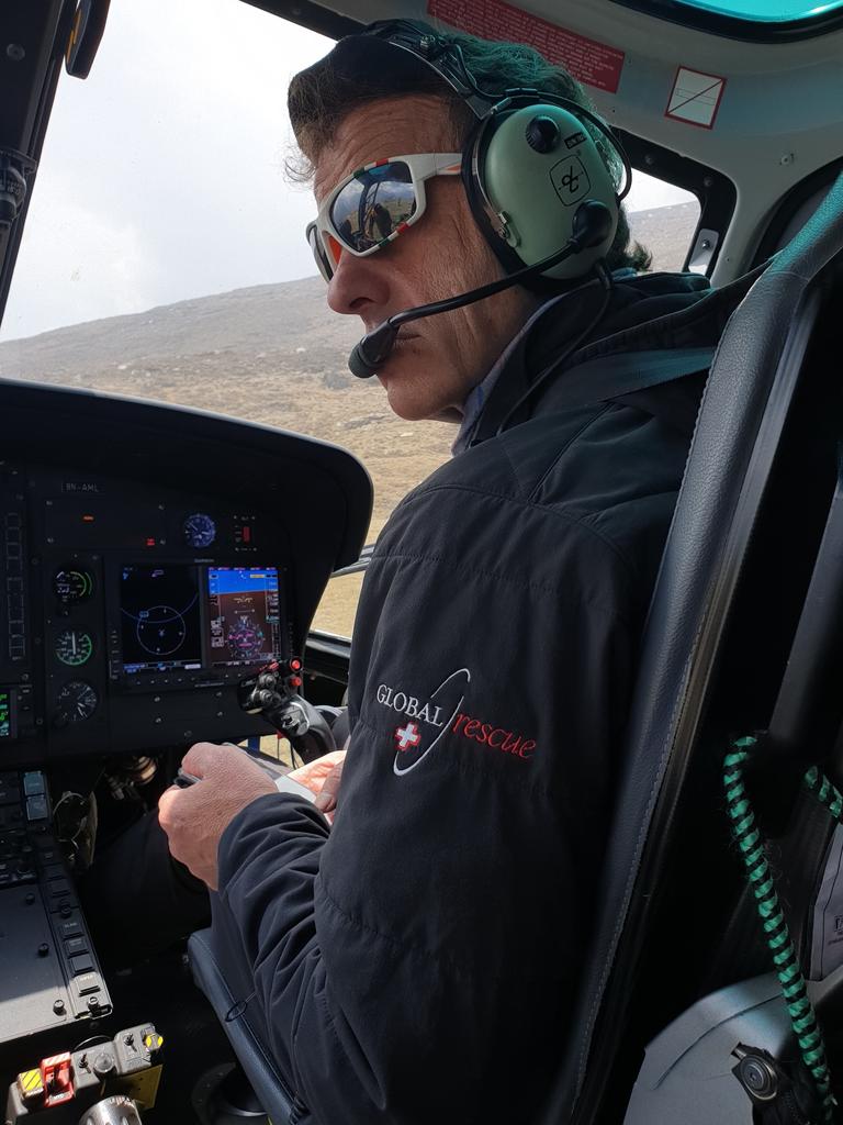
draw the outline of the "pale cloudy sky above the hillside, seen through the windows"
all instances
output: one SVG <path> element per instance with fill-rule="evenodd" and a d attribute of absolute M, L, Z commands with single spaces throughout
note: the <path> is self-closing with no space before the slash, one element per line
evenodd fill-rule
<path fill-rule="evenodd" d="M 112 0 L 58 82 L 0 340 L 312 276 L 287 87 L 330 46 L 239 0 Z M 632 209 L 689 198 L 646 181 Z"/>

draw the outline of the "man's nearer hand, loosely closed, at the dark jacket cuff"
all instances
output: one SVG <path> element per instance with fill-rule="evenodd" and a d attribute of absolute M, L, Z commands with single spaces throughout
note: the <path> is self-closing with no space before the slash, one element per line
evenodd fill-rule
<path fill-rule="evenodd" d="M 277 792 L 272 780 L 236 746 L 197 742 L 182 770 L 201 778 L 188 789 L 167 789 L 158 820 L 173 856 L 212 891 L 217 890 L 217 849 L 223 832 L 247 804 Z"/>

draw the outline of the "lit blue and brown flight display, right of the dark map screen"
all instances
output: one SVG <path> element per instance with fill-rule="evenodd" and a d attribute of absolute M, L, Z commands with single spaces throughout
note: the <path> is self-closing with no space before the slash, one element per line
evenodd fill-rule
<path fill-rule="evenodd" d="M 275 567 L 209 567 L 211 664 L 263 664 L 279 655 Z"/>

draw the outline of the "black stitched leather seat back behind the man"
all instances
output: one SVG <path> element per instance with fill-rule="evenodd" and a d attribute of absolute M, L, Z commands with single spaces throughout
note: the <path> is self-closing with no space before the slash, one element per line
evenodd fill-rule
<path fill-rule="evenodd" d="M 781 472 L 800 376 L 818 325 L 828 323 L 822 314 L 842 258 L 843 177 L 733 314 L 711 366 L 645 628 L 599 917 L 547 1125 L 618 1119 L 609 1102 L 624 1099 L 644 1045 L 636 1040 L 641 1025 L 635 1026 L 633 1005 L 646 984 L 645 951 L 652 960 L 654 932 L 671 896 L 680 909 L 695 909 L 687 873 L 685 882 L 681 873 L 667 879 L 682 818 L 696 817 L 695 831 L 710 838 L 708 826 L 722 816 L 716 785 L 729 722 L 743 732 L 742 724 L 772 702 L 767 677 L 724 685 L 725 641 L 734 645 L 741 631 L 738 584 L 768 486 Z M 797 561 L 796 578 L 781 576 L 782 590 L 790 596 L 792 587 L 796 598 L 788 608 L 791 616 L 798 613 L 815 547 L 812 524 L 805 536 L 807 561 Z M 746 600 L 752 605 L 751 590 Z M 759 652 L 760 665 L 769 659 L 778 667 L 777 660 L 786 659 L 794 623 L 782 622 L 772 645 L 777 651 Z M 733 658 L 733 673 L 734 667 Z M 701 800 L 689 799 L 691 786 Z M 728 858 L 725 819 L 723 825 L 722 853 Z M 692 865 L 697 890 L 706 854 L 701 847 Z M 720 874 L 724 886 L 718 886 Z M 725 914 L 740 893 L 738 875 L 724 867 L 707 880 L 709 896 L 718 886 L 715 897 Z M 709 929 L 716 930 L 710 919 Z M 632 1060 L 628 1073 L 619 1065 L 623 1055 Z"/>

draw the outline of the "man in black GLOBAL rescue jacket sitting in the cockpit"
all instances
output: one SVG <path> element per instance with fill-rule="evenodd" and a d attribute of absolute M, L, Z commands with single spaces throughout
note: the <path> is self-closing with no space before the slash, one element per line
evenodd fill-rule
<path fill-rule="evenodd" d="M 582 102 L 528 48 L 457 42 L 480 89 Z M 373 162 L 462 150 L 471 112 L 396 51 L 353 36 L 293 80 L 317 204 Z M 378 252 L 336 250 L 328 304 L 365 330 L 504 273 L 460 178 L 426 190 Z M 735 299 L 636 276 L 627 240 L 622 216 L 609 288 L 514 286 L 411 322 L 379 368 L 397 414 L 461 430 L 366 574 L 333 829 L 210 744 L 183 764 L 201 783 L 162 798 L 173 855 L 219 891 L 269 1050 L 324 1125 L 528 1120 L 562 1056 L 701 380 L 571 405 L 553 364 L 714 346 Z"/>

